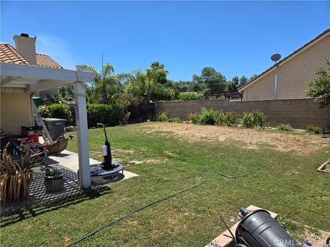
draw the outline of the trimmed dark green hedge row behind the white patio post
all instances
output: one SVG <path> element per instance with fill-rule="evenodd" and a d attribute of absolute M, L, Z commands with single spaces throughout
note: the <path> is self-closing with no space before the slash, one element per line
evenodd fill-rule
<path fill-rule="evenodd" d="M 69 106 L 65 104 L 51 104 L 49 106 L 39 106 L 41 117 L 53 117 L 67 119 L 68 123 L 72 120 Z M 116 126 L 124 121 L 125 108 L 120 104 L 87 104 L 87 123 L 88 127 L 96 127 L 97 123 L 106 126 Z"/>

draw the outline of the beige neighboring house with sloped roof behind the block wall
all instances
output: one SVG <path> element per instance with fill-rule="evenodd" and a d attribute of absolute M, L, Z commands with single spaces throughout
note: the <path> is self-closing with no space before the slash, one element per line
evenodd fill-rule
<path fill-rule="evenodd" d="M 326 68 L 326 57 L 330 58 L 330 29 L 241 86 L 239 92 L 245 101 L 307 98 L 307 81 L 317 78 L 317 68 Z"/>

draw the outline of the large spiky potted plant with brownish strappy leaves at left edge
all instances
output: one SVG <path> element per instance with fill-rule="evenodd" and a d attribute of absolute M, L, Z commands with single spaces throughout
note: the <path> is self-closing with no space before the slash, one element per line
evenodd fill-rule
<path fill-rule="evenodd" d="M 3 149 L 0 163 L 0 188 L 3 204 L 19 202 L 28 196 L 30 183 L 33 178 L 32 168 L 40 164 L 29 150 L 25 150 L 21 154 L 20 159 L 14 161 L 7 152 L 9 144 L 7 143 Z"/>

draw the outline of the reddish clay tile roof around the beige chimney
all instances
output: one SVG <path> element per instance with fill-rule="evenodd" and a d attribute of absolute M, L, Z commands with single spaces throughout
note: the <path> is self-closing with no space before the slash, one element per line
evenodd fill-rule
<path fill-rule="evenodd" d="M 21 54 L 19 54 L 17 49 L 8 43 L 0 43 L 0 62 L 32 65 Z M 63 69 L 63 67 L 50 58 L 50 56 L 44 54 L 36 54 L 36 64 L 43 67 Z"/>

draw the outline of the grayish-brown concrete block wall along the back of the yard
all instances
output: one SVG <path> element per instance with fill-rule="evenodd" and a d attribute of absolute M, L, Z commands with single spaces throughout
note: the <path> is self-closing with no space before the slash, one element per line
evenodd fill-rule
<path fill-rule="evenodd" d="M 317 108 L 313 99 L 272 99 L 230 102 L 229 99 L 189 100 L 181 102 L 156 102 L 155 109 L 168 110 L 170 117 L 188 120 L 189 113 L 202 107 L 214 110 L 234 110 L 237 113 L 261 110 L 268 118 L 265 126 L 292 124 L 294 128 L 306 128 L 309 124 L 324 127 L 330 124 L 330 107 Z"/>

